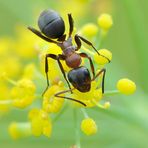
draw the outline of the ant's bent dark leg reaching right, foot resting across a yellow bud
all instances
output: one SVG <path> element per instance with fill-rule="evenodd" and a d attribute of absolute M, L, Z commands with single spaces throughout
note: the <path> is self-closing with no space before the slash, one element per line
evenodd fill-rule
<path fill-rule="evenodd" d="M 100 55 L 100 56 L 106 58 L 106 59 L 108 60 L 108 62 L 110 63 L 110 60 L 109 60 L 106 56 L 101 55 L 90 41 L 88 41 L 88 40 L 86 40 L 85 38 L 83 38 L 83 37 L 81 37 L 81 36 L 79 36 L 79 35 L 76 34 L 76 35 L 75 35 L 75 41 L 76 41 L 76 44 L 77 44 L 77 46 L 78 46 L 77 50 L 79 50 L 79 49 L 81 48 L 81 40 L 82 40 L 83 42 L 85 42 L 86 44 L 88 44 L 89 46 L 91 46 L 91 47 L 96 51 L 96 53 L 97 53 L 98 55 Z"/>

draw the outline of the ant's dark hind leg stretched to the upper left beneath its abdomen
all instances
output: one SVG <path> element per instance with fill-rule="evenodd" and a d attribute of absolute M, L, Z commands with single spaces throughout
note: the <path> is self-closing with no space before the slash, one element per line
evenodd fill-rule
<path fill-rule="evenodd" d="M 42 35 L 41 32 L 39 32 L 38 30 L 32 28 L 32 27 L 28 27 L 28 29 L 30 31 L 32 31 L 34 34 L 36 34 L 37 36 L 39 36 L 40 38 L 42 38 L 43 40 L 47 41 L 47 42 L 51 42 L 51 43 L 55 43 L 55 44 L 58 44 L 58 42 L 54 41 L 54 40 L 51 40 L 47 37 L 45 37 L 44 35 Z"/>

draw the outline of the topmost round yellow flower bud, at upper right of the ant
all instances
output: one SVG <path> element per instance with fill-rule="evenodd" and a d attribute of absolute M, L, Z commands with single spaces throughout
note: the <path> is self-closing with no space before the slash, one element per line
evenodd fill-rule
<path fill-rule="evenodd" d="M 113 25 L 113 20 L 112 20 L 111 15 L 106 14 L 106 13 L 102 14 L 98 18 L 98 24 L 104 30 L 110 29 L 112 27 L 112 25 Z"/>

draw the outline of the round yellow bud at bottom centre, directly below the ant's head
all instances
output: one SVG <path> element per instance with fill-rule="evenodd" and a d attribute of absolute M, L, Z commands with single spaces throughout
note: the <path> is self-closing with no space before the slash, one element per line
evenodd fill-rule
<path fill-rule="evenodd" d="M 93 135 L 97 132 L 97 125 L 93 119 L 87 118 L 81 122 L 81 130 L 88 136 Z"/>

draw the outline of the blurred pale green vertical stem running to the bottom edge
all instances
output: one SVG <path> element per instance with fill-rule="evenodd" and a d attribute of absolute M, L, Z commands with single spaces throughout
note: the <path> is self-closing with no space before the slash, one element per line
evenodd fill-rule
<path fill-rule="evenodd" d="M 79 131 L 79 119 L 78 119 L 78 109 L 77 108 L 74 108 L 74 122 L 75 122 L 76 146 L 77 146 L 77 148 L 81 148 L 80 131 Z"/>

